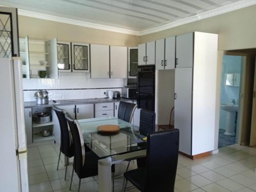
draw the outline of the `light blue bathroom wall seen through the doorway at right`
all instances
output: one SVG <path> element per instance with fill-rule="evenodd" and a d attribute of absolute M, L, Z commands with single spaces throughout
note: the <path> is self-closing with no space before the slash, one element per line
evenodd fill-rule
<path fill-rule="evenodd" d="M 239 104 L 239 87 L 230 87 L 225 85 L 226 73 L 240 73 L 242 67 L 242 56 L 224 55 L 221 75 L 221 103 L 229 103 L 230 99 L 234 99 Z M 226 129 L 227 112 L 220 111 L 219 129 Z"/>

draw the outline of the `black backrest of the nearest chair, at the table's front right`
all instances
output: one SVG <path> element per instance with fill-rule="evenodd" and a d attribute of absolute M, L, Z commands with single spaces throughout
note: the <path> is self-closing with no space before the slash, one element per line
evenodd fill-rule
<path fill-rule="evenodd" d="M 146 153 L 145 191 L 173 192 L 178 164 L 179 130 L 148 134 Z"/>

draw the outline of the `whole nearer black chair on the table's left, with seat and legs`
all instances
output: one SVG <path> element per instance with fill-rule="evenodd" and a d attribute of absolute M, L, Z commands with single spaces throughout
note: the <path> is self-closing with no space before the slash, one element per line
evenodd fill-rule
<path fill-rule="evenodd" d="M 100 158 L 93 151 L 88 150 L 89 147 L 83 141 L 82 130 L 77 120 L 73 119 L 69 113 L 65 114 L 65 118 L 68 121 L 74 143 L 74 163 L 70 181 L 70 190 L 75 171 L 79 178 L 78 191 L 80 191 L 81 179 L 98 175 L 98 160 Z M 115 172 L 114 166 L 112 166 L 111 172 Z M 114 191 L 114 177 L 112 177 L 112 179 Z"/>

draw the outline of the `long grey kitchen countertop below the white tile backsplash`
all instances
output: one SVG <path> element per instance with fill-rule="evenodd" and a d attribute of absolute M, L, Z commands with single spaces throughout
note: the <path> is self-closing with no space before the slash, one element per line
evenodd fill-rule
<path fill-rule="evenodd" d="M 94 103 L 106 103 L 106 102 L 131 102 L 136 101 L 136 99 L 105 99 L 105 98 L 94 98 L 94 99 L 69 99 L 69 100 L 55 100 L 53 102 L 52 100 L 49 101 L 48 104 L 36 104 L 36 101 L 30 101 L 30 102 L 24 102 L 24 108 L 47 108 L 51 106 L 61 106 L 61 105 L 73 105 L 73 104 L 94 104 Z"/>

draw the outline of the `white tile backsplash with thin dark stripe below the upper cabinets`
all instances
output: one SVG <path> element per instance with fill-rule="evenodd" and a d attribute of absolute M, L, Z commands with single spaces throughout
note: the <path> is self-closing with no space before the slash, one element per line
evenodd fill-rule
<path fill-rule="evenodd" d="M 122 91 L 123 79 L 24 79 L 24 101 L 35 101 L 36 90 L 48 90 L 49 100 L 106 97 L 108 90 Z M 105 89 L 104 89 L 105 88 Z M 114 88 L 114 89 L 108 89 Z M 59 90 L 61 89 L 61 90 Z M 72 89 L 72 90 L 71 90 Z"/>

